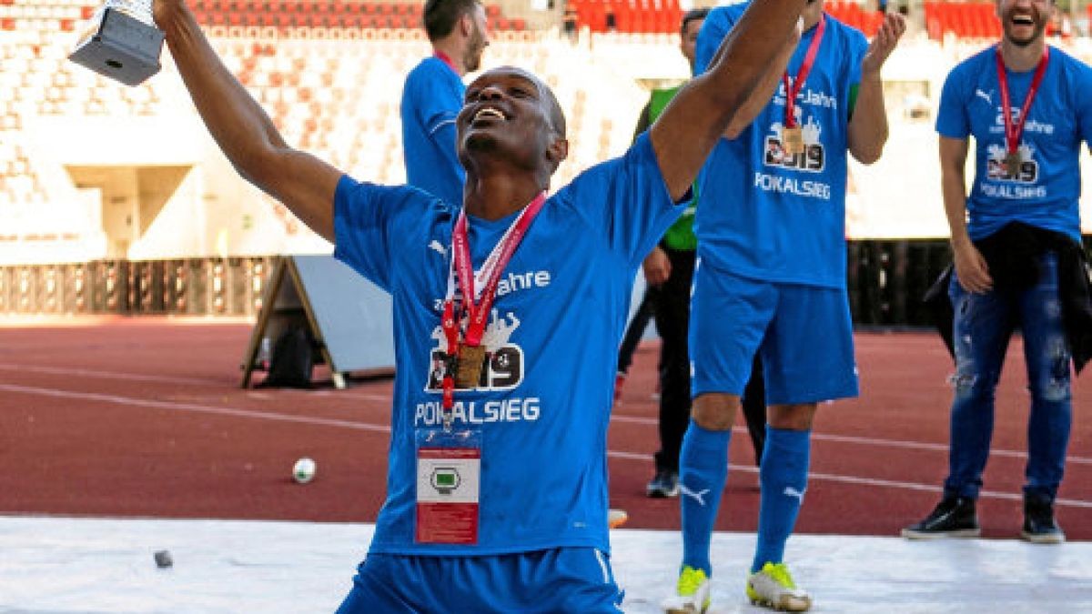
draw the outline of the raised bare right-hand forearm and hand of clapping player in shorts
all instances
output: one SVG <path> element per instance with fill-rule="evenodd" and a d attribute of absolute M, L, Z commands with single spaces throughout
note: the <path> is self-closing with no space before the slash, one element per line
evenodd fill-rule
<path fill-rule="evenodd" d="M 853 118 L 850 119 L 848 138 L 850 153 L 862 164 L 879 160 L 887 143 L 887 109 L 883 107 L 880 69 L 905 31 L 906 22 L 902 15 L 888 13 L 860 61 L 860 84 Z"/>

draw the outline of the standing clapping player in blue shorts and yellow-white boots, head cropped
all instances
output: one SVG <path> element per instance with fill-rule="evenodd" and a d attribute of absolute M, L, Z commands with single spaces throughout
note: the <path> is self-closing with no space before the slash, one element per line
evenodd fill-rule
<path fill-rule="evenodd" d="M 880 156 L 888 133 L 880 69 L 905 28 L 902 15 L 889 14 L 869 44 L 822 8 L 822 0 L 809 0 L 805 32 L 786 49 L 787 70 L 763 76 L 780 84 L 778 92 L 748 101 L 761 113 L 731 127 L 698 184 L 693 412 L 679 457 L 682 562 L 675 594 L 664 603 L 668 612 L 709 606 L 710 539 L 756 352 L 768 426 L 746 592 L 780 610 L 811 606 L 783 557 L 807 491 L 817 403 L 857 394 L 845 293 L 847 157 L 869 164 Z M 746 9 L 710 12 L 698 35 L 698 73 Z"/>

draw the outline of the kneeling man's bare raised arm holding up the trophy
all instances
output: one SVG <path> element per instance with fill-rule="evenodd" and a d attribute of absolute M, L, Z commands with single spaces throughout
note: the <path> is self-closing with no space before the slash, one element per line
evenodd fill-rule
<path fill-rule="evenodd" d="M 333 241 L 334 190 L 342 174 L 284 142 L 216 56 L 183 0 L 155 0 L 154 14 L 193 105 L 235 169 Z"/>

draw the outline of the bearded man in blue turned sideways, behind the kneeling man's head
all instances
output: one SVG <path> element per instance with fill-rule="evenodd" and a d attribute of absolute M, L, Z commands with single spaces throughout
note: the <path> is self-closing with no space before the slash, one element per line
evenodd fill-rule
<path fill-rule="evenodd" d="M 465 173 L 455 153 L 455 116 L 463 106 L 463 76 L 482 66 L 489 45 L 478 0 L 428 0 L 425 34 L 432 55 L 406 75 L 402 88 L 402 155 L 406 184 L 459 204 Z"/>

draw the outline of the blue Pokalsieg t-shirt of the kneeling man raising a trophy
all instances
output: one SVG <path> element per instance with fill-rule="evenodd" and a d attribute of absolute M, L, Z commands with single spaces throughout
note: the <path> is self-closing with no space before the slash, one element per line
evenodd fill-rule
<path fill-rule="evenodd" d="M 430 361 L 443 346 L 459 209 L 412 187 L 342 178 L 334 255 L 390 292 L 394 311 L 387 501 L 371 552 L 607 551 L 606 435 L 630 287 L 682 209 L 670 200 L 648 135 L 546 201 L 498 286 L 484 339 L 489 385 L 455 392 L 455 428 L 484 435 L 478 544 L 416 544 L 415 429 L 442 425 Z M 470 217 L 475 268 L 513 219 Z"/>

